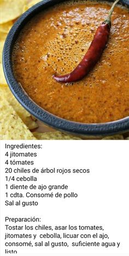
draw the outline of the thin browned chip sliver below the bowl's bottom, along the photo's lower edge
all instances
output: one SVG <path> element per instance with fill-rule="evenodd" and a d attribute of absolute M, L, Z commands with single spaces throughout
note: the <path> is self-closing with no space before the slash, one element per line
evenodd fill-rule
<path fill-rule="evenodd" d="M 38 133 L 34 132 L 33 135 L 38 139 L 38 140 L 81 140 L 78 137 L 72 136 L 72 135 L 67 135 L 65 133 L 61 132 L 54 132 L 54 133 Z"/>

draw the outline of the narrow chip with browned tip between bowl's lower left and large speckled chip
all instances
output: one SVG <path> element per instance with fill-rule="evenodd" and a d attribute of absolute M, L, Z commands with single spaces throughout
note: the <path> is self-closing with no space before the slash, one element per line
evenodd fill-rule
<path fill-rule="evenodd" d="M 26 124 L 26 126 L 32 130 L 38 127 L 38 124 L 34 121 L 34 118 L 31 117 L 31 114 L 21 106 L 21 104 L 16 100 L 13 93 L 11 93 L 8 86 L 0 85 L 0 94 L 16 111 L 17 115 L 21 120 Z"/>

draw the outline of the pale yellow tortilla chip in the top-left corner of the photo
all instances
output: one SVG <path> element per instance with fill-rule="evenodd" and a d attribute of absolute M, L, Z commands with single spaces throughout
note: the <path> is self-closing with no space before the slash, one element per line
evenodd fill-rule
<path fill-rule="evenodd" d="M 26 0 L 1 0 L 0 24 L 14 20 L 22 14 Z"/>

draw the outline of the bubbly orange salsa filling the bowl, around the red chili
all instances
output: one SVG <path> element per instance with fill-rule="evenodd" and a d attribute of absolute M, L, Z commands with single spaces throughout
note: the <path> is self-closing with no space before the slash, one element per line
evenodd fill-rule
<path fill-rule="evenodd" d="M 129 116 L 129 13 L 115 7 L 107 48 L 95 68 L 72 84 L 52 75 L 71 72 L 107 17 L 106 3 L 69 1 L 36 15 L 14 47 L 15 77 L 43 109 L 67 120 L 103 123 Z"/>

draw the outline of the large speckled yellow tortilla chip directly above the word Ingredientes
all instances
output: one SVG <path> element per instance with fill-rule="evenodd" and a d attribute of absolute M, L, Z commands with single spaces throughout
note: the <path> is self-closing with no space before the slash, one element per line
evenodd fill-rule
<path fill-rule="evenodd" d="M 0 96 L 0 139 L 36 140 L 8 101 Z"/>

